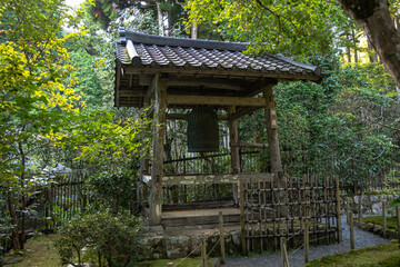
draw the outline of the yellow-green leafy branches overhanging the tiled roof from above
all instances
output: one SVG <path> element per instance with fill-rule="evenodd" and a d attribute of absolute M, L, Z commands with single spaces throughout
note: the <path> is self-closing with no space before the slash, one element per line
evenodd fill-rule
<path fill-rule="evenodd" d="M 256 43 L 253 52 L 330 53 L 344 13 L 332 1 L 190 0 L 189 23 L 210 21 L 228 39 Z M 231 37 L 231 38 L 229 38 Z"/>

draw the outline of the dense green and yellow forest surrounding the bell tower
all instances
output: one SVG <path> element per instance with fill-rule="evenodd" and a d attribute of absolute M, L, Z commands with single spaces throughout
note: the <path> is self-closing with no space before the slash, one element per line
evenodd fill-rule
<path fill-rule="evenodd" d="M 389 2 L 399 31 L 399 3 Z M 120 27 L 250 42 L 249 53 L 320 66 L 329 75 L 320 85 L 274 87 L 284 171 L 336 174 L 350 185 L 397 176 L 399 89 L 364 28 L 337 1 L 87 0 L 72 11 L 61 0 L 1 0 L 0 16 L 0 225 L 13 247 L 23 247 L 26 216 L 34 209 L 29 200 L 51 185 L 53 172 L 84 170 L 104 185 L 118 182 L 110 177 L 137 180 L 151 141 L 142 129 L 151 121 L 141 110 L 113 107 Z M 166 159 L 182 158 L 186 122 L 168 123 Z M 247 116 L 240 140 L 267 144 L 264 128 L 262 112 Z M 223 122 L 220 132 L 223 144 Z M 263 150 L 259 171 L 268 166 Z"/>

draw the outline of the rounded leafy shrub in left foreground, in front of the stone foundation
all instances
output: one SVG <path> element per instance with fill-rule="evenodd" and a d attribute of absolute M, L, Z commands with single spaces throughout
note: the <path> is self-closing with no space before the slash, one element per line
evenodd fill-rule
<path fill-rule="evenodd" d="M 62 264 L 90 261 L 97 266 L 133 266 L 144 256 L 140 247 L 141 222 L 127 214 L 108 210 L 74 217 L 59 229 L 57 248 Z M 84 253 L 82 248 L 86 247 Z"/>

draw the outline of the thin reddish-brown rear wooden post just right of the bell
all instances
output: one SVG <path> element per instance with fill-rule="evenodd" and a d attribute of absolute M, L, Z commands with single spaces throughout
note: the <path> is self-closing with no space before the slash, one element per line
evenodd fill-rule
<path fill-rule="evenodd" d="M 230 107 L 228 125 L 229 125 L 229 139 L 230 139 L 230 150 L 231 150 L 231 172 L 232 175 L 237 175 L 240 172 L 240 155 L 239 155 L 239 134 L 238 134 L 238 120 L 232 119 L 230 116 L 234 113 L 234 106 Z M 239 194 L 238 194 L 238 184 L 232 184 L 233 190 L 233 201 L 238 202 Z"/>

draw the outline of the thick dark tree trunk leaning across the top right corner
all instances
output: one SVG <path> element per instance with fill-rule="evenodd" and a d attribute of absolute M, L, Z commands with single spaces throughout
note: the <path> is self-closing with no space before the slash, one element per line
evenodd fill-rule
<path fill-rule="evenodd" d="M 389 12 L 388 0 L 339 0 L 364 30 L 383 66 L 400 86 L 400 32 Z"/>

